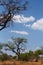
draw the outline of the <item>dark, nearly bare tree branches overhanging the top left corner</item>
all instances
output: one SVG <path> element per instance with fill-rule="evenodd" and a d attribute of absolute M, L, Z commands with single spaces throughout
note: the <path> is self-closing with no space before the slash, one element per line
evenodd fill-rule
<path fill-rule="evenodd" d="M 22 0 L 0 0 L 0 31 L 7 27 L 7 24 L 12 21 L 15 14 L 18 14 L 22 10 L 26 10 L 27 1 L 25 3 Z"/>

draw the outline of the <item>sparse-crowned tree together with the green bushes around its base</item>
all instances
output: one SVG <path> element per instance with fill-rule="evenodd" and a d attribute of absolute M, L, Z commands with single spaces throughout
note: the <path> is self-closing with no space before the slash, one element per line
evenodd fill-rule
<path fill-rule="evenodd" d="M 43 49 L 25 52 L 25 45 L 27 43 L 27 39 L 25 38 L 11 38 L 11 41 L 8 43 L 0 43 L 0 60 L 20 60 L 20 61 L 35 61 L 38 62 L 39 59 L 43 59 Z M 15 55 L 10 56 L 8 54 L 3 53 L 2 49 L 6 51 L 12 51 Z"/>

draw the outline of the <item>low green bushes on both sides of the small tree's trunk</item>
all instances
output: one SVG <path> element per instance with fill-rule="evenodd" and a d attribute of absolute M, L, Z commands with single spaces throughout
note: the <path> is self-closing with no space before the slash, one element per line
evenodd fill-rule
<path fill-rule="evenodd" d="M 27 53 L 21 53 L 19 55 L 19 60 L 22 61 L 38 61 L 39 55 L 43 54 L 42 50 L 36 50 L 36 51 L 29 51 Z M 0 60 L 9 60 L 9 59 L 17 59 L 17 56 L 8 56 L 7 54 L 0 55 Z"/>

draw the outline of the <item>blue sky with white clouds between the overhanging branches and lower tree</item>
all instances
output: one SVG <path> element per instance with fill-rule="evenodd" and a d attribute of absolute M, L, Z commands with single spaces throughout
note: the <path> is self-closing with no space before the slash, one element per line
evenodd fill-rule
<path fill-rule="evenodd" d="M 24 37 L 28 41 L 27 50 L 43 46 L 43 0 L 29 0 L 28 9 L 12 20 L 12 26 L 0 31 L 0 42 L 8 42 L 11 37 Z"/>

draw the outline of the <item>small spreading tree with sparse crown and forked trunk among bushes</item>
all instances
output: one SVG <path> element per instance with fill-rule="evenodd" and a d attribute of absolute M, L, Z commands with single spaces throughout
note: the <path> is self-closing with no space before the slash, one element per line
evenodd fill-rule
<path fill-rule="evenodd" d="M 11 50 L 14 52 L 19 59 L 20 53 L 25 50 L 24 43 L 26 42 L 27 40 L 25 38 L 12 38 L 12 41 L 5 44 L 5 47 L 7 47 L 6 50 Z"/>

